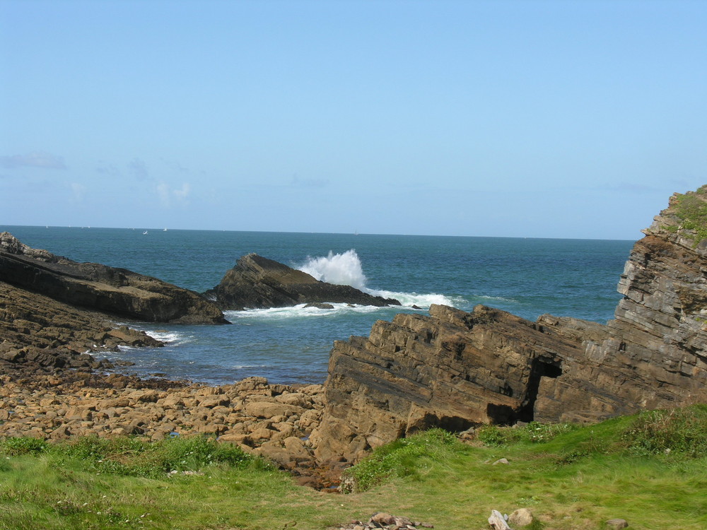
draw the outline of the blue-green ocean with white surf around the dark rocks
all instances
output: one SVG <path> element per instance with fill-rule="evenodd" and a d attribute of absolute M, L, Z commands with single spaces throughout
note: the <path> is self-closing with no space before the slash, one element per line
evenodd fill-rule
<path fill-rule="evenodd" d="M 490 305 L 520 317 L 551 313 L 605 323 L 633 241 L 513 237 L 320 234 L 0 226 L 25 245 L 94 261 L 204 292 L 250 252 L 331 283 L 348 283 L 403 307 L 293 307 L 226 312 L 230 326 L 129 323 L 166 342 L 105 355 L 159 375 L 228 384 L 259 375 L 273 383 L 322 383 L 333 341 L 368 336 L 376 320 L 427 312 L 432 303 Z M 417 306 L 420 309 L 415 309 Z"/>

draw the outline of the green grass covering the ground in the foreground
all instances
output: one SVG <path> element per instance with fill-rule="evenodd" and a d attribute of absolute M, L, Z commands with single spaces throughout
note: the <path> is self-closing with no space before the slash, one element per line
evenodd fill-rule
<path fill-rule="evenodd" d="M 432 430 L 377 449 L 348 471 L 354 493 L 335 495 L 202 438 L 21 438 L 0 442 L 0 529 L 327 529 L 385 511 L 480 530 L 493 509 L 527 507 L 532 530 L 598 530 L 614 517 L 696 530 L 707 527 L 706 440 L 707 406 L 484 428 L 474 445 Z"/>

